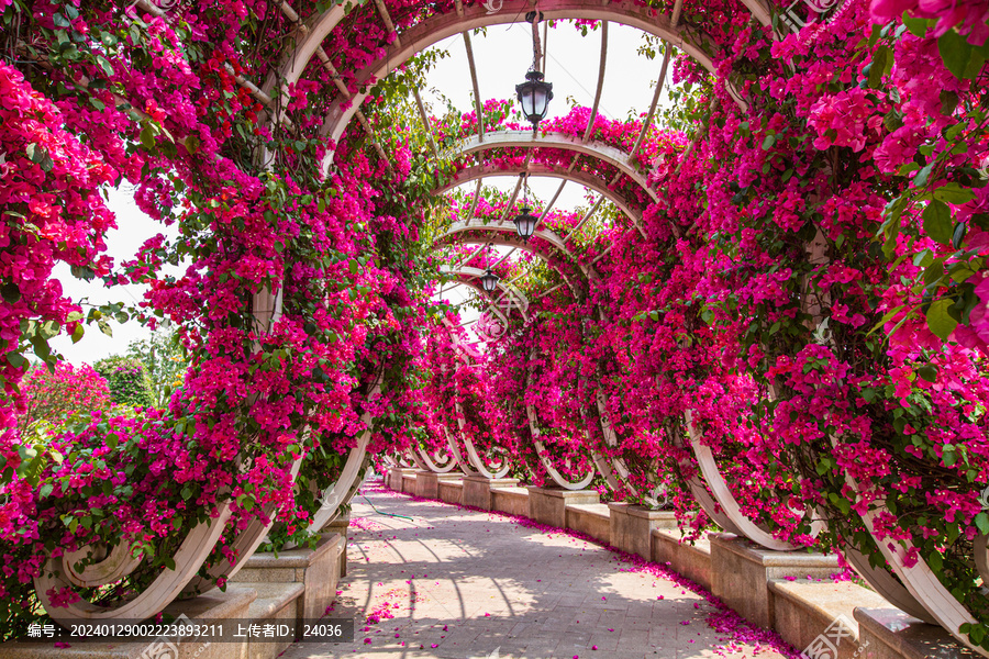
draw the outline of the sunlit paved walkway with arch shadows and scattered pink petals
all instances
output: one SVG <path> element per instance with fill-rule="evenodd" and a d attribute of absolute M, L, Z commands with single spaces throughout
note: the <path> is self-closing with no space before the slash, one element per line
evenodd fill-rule
<path fill-rule="evenodd" d="M 751 629 L 687 587 L 599 545 L 377 483 L 362 492 L 412 521 L 355 498 L 349 573 L 330 615 L 357 621 L 356 643 L 297 643 L 282 659 L 786 656 L 746 641 Z"/>

